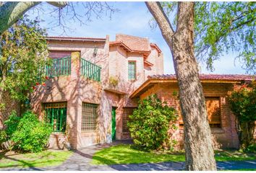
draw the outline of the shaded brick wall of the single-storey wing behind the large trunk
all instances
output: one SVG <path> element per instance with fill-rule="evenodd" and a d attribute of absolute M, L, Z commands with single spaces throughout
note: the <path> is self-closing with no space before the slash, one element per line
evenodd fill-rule
<path fill-rule="evenodd" d="M 236 128 L 235 128 L 235 117 L 229 109 L 229 103 L 226 99 L 227 92 L 231 89 L 231 84 L 206 84 L 202 83 L 203 92 L 205 97 L 219 97 L 219 103 L 221 108 L 221 128 L 211 128 L 213 143 L 215 148 L 237 148 L 239 145 Z M 176 125 L 179 130 L 174 133 L 174 138 L 179 141 L 179 147 L 183 147 L 183 126 L 181 109 L 179 107 L 179 101 L 174 96 L 174 92 L 179 92 L 178 85 L 174 84 L 156 84 L 147 92 L 141 94 L 140 99 L 148 97 L 150 94 L 157 94 L 158 97 L 167 102 L 171 107 L 175 107 L 179 111 L 179 120 Z M 208 110 L 212 107 L 208 104 Z"/>

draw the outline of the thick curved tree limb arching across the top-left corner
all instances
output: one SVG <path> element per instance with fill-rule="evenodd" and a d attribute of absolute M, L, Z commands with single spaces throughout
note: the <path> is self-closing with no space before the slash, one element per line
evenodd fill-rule
<path fill-rule="evenodd" d="M 49 1 L 49 4 L 62 8 L 67 5 L 66 1 Z M 0 35 L 17 22 L 27 10 L 40 4 L 40 1 L 11 1 L 0 6 Z"/>

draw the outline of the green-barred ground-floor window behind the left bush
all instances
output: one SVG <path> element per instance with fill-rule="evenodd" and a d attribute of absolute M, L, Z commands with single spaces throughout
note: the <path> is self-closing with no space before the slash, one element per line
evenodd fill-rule
<path fill-rule="evenodd" d="M 46 122 L 50 123 L 54 132 L 64 132 L 67 122 L 67 102 L 45 103 Z"/>

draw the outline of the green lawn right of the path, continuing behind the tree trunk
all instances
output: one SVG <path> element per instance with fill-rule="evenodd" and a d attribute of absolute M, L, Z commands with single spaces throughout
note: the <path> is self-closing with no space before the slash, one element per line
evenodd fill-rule
<path fill-rule="evenodd" d="M 254 160 L 255 154 L 241 154 L 237 151 L 216 151 L 216 161 Z M 185 161 L 184 152 L 151 153 L 138 151 L 131 145 L 118 145 L 103 148 L 93 156 L 92 164 L 139 164 L 163 161 Z"/>

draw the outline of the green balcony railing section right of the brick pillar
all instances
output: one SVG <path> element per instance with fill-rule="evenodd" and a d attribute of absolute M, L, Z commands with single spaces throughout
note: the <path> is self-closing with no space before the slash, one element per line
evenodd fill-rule
<path fill-rule="evenodd" d="M 82 58 L 81 75 L 95 81 L 101 81 L 101 67 Z"/>

